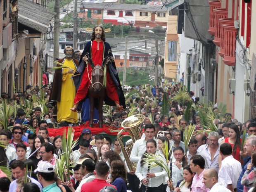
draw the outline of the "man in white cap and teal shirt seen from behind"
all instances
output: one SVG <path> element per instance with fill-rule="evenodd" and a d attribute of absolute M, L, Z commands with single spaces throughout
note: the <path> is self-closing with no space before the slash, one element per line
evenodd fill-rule
<path fill-rule="evenodd" d="M 43 185 L 42 192 L 61 192 L 54 181 L 54 168 L 48 161 L 40 163 L 34 173 L 36 173 L 39 183 Z"/>

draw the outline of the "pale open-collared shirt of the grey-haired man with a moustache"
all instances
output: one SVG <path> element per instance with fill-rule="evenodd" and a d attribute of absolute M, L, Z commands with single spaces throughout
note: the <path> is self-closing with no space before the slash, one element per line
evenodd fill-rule
<path fill-rule="evenodd" d="M 208 161 L 209 164 L 209 168 L 214 168 L 217 173 L 219 172 L 219 162 L 218 162 L 218 158 L 219 158 L 219 150 L 220 150 L 220 146 L 218 146 L 218 149 L 213 157 L 213 160 L 211 161 L 211 153 L 210 150 L 208 148 L 208 143 L 205 145 L 201 145 L 197 151 L 201 152 L 202 154 L 204 154 L 206 156 L 206 160 Z"/>

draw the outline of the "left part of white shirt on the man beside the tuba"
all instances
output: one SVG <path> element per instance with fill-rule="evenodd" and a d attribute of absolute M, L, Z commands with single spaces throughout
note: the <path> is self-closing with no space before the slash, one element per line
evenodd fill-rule
<path fill-rule="evenodd" d="M 146 140 L 145 138 L 135 141 L 133 149 L 130 153 L 130 161 L 137 163 L 140 161 L 140 157 L 146 151 Z"/>

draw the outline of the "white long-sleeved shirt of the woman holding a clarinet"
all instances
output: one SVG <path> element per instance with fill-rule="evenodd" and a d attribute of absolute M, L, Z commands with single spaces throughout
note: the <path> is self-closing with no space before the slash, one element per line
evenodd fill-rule
<path fill-rule="evenodd" d="M 144 166 L 141 167 L 140 161 L 141 161 L 141 158 L 138 161 L 135 175 L 142 182 L 142 180 L 146 178 L 148 164 L 144 164 Z M 167 175 L 166 171 L 161 166 L 150 168 L 149 173 L 154 173 L 156 177 L 149 179 L 148 187 L 158 187 L 159 185 L 163 184 L 163 178 L 166 177 Z"/>

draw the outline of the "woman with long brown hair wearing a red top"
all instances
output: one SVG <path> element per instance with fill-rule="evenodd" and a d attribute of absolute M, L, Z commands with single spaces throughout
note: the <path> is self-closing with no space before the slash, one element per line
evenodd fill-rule
<path fill-rule="evenodd" d="M 242 138 L 240 138 L 240 131 L 237 125 L 233 124 L 228 129 L 229 137 L 226 137 L 220 145 L 223 143 L 229 143 L 232 146 L 232 156 L 237 160 L 240 161 L 240 149 L 241 149 L 241 142 Z M 247 157 L 247 155 L 242 155 L 243 157 Z M 219 169 L 221 167 L 222 157 L 219 156 Z M 241 164 L 243 164 L 243 159 L 241 158 Z"/>

